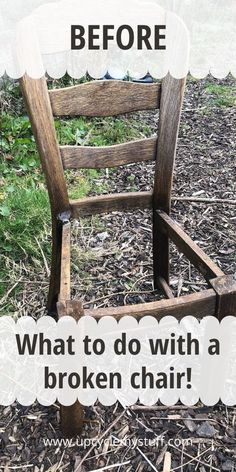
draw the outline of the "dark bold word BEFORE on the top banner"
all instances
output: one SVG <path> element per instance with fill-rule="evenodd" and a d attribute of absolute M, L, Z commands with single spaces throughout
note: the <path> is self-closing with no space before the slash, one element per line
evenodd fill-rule
<path fill-rule="evenodd" d="M 82 25 L 71 26 L 71 49 L 90 51 L 108 50 L 110 45 L 127 51 L 133 47 L 138 50 L 165 50 L 165 25 L 138 25 L 136 31 L 129 25 L 121 25 L 115 29 L 114 25 L 89 25 L 86 29 Z"/>

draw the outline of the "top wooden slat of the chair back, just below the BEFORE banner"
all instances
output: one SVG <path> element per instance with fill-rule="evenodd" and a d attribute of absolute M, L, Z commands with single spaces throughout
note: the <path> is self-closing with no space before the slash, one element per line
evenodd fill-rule
<path fill-rule="evenodd" d="M 115 116 L 159 108 L 160 85 L 96 80 L 49 91 L 55 116 Z"/>

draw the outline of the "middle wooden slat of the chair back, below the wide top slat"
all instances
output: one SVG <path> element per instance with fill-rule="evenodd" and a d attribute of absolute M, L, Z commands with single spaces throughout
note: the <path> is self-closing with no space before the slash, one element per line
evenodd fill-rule
<path fill-rule="evenodd" d="M 156 158 L 157 138 L 140 139 L 114 146 L 60 146 L 65 169 L 101 169 Z"/>

